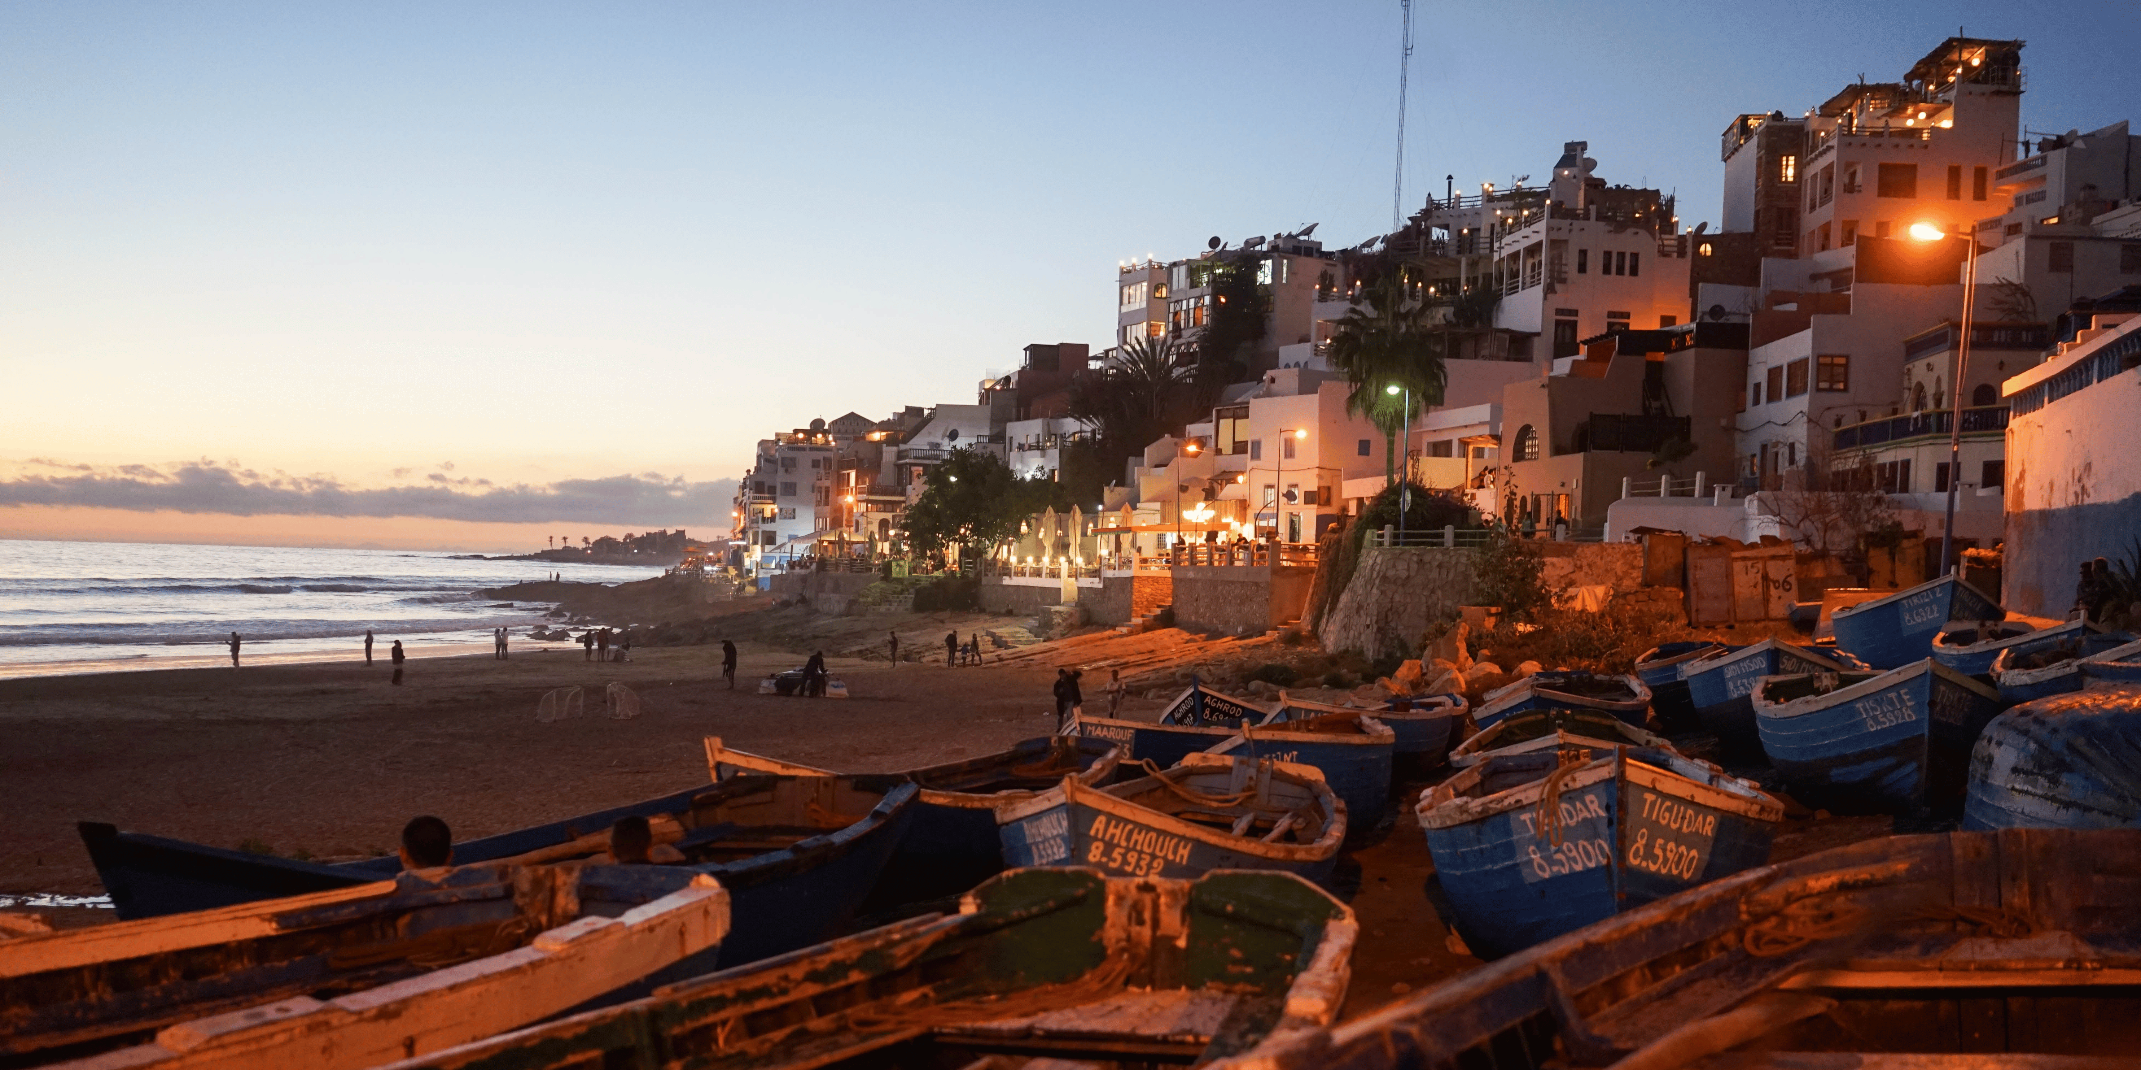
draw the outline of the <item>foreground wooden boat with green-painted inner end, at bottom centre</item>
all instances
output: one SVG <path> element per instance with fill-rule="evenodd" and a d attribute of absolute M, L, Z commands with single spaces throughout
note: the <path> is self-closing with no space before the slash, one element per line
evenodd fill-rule
<path fill-rule="evenodd" d="M 1193 1066 L 1327 1025 L 1357 922 L 1285 873 L 1021 869 L 912 918 L 392 1070 Z"/>

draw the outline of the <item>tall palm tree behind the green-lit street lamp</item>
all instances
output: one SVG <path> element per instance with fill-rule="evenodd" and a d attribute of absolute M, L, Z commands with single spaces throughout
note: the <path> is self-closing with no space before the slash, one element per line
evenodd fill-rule
<path fill-rule="evenodd" d="M 1366 415 L 1383 432 L 1387 482 L 1398 477 L 1396 439 L 1407 409 L 1417 415 L 1441 404 L 1447 381 L 1443 334 L 1428 323 L 1428 304 L 1417 289 L 1407 265 L 1362 287 L 1366 308 L 1355 304 L 1347 310 L 1325 357 L 1353 387 L 1345 398 L 1347 413 Z"/>

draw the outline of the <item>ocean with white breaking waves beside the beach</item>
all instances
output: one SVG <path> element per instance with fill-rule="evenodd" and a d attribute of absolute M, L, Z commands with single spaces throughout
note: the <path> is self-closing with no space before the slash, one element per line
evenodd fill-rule
<path fill-rule="evenodd" d="M 501 603 L 475 591 L 552 571 L 617 584 L 659 567 L 467 561 L 447 552 L 310 550 L 0 539 L 0 676 L 163 668 L 246 655 L 377 657 L 394 640 L 424 646 L 490 642 L 544 621 L 548 603 Z"/>

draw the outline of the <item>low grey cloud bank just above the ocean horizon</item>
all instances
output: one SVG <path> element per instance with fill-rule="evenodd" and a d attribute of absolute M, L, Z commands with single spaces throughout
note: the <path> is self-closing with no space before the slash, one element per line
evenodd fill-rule
<path fill-rule="evenodd" d="M 236 464 L 62 464 L 0 479 L 0 505 L 88 505 L 233 516 L 422 516 L 486 522 L 595 522 L 627 526 L 728 526 L 734 479 L 704 484 L 659 473 L 492 484 L 426 475 L 417 486 L 351 488 L 332 475 L 259 473 Z"/>

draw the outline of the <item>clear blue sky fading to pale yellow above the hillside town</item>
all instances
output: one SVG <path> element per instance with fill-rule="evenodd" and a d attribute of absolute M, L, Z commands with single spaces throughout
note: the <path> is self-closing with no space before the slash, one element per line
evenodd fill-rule
<path fill-rule="evenodd" d="M 1957 26 L 2030 41 L 2032 128 L 2141 118 L 2141 4 L 1424 2 L 1407 210 L 1586 139 L 1715 220 L 1734 113 Z M 1396 34 L 1396 0 L 4 4 L 0 460 L 728 477 L 1105 345 L 1124 257 L 1381 233 Z"/>

